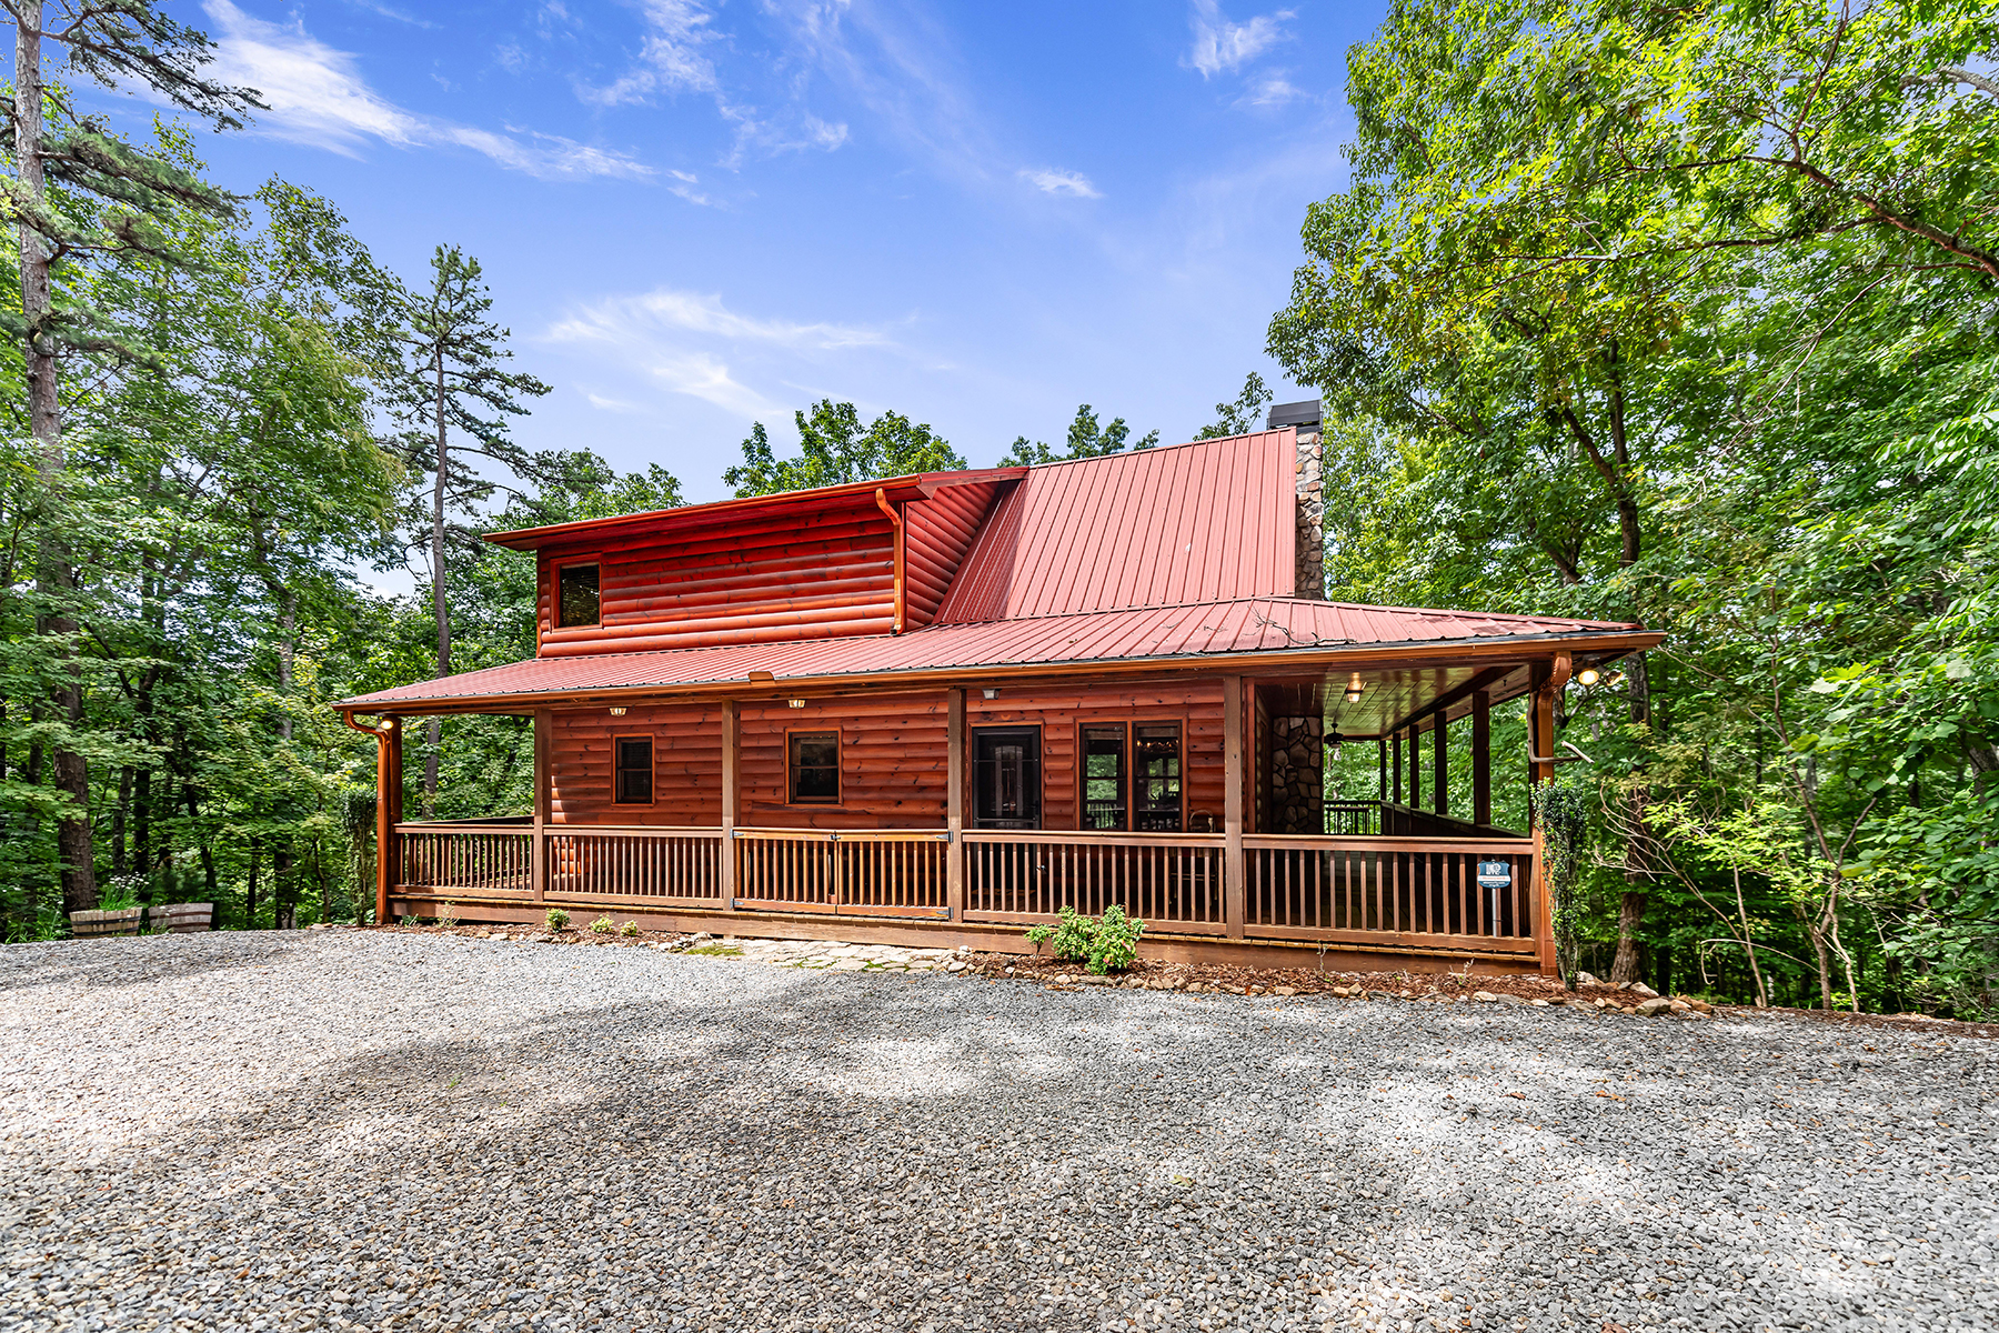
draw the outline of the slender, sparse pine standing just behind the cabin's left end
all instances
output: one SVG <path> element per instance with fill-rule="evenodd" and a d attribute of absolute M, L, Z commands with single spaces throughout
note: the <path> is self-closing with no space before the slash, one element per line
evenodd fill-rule
<path fill-rule="evenodd" d="M 422 532 L 440 677 L 452 673 L 450 546 L 454 540 L 474 540 L 470 528 L 454 530 L 450 516 L 470 514 L 502 490 L 474 460 L 500 464 L 520 482 L 536 482 L 540 476 L 534 456 L 510 438 L 508 418 L 528 414 L 522 398 L 540 398 L 550 390 L 534 376 L 502 370 L 514 354 L 504 346 L 510 330 L 498 328 L 488 316 L 492 304 L 480 262 L 458 246 L 438 246 L 430 258 L 430 288 L 402 300 L 404 370 L 398 414 L 408 428 L 402 454 L 412 472 L 430 476 Z M 438 799 L 440 737 L 442 729 L 432 717 L 426 737 L 430 753 L 424 757 L 426 809 Z"/>

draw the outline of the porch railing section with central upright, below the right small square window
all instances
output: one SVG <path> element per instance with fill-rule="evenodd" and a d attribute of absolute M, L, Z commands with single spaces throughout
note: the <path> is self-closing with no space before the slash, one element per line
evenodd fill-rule
<path fill-rule="evenodd" d="M 946 831 L 736 829 L 736 905 L 868 917 L 948 917 Z"/>

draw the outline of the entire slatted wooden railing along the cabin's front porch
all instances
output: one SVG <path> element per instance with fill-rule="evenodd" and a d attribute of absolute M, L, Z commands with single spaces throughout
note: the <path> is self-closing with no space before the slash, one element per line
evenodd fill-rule
<path fill-rule="evenodd" d="M 1395 811 L 1395 807 L 1387 807 Z M 942 829 L 400 823 L 400 885 L 432 897 L 950 919 Z M 968 831 L 964 919 L 1029 925 L 1119 905 L 1151 933 L 1227 933 L 1227 839 L 1195 833 Z M 726 861 L 724 857 L 732 857 Z M 1481 869 L 1493 883 L 1479 883 Z M 1243 937 L 1535 951 L 1525 837 L 1243 837 Z"/>

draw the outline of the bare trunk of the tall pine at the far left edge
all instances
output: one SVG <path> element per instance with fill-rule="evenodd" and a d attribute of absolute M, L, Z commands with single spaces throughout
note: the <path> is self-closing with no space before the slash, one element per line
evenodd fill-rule
<path fill-rule="evenodd" d="M 32 204 L 42 204 L 46 196 L 46 176 L 42 168 L 42 6 L 24 2 L 16 6 L 14 22 L 14 170 L 20 190 Z M 84 677 L 82 664 L 68 648 L 68 636 L 76 634 L 76 622 L 68 614 L 74 576 L 70 572 L 70 548 L 62 538 L 58 516 L 58 496 L 64 486 L 68 460 L 62 454 L 62 418 L 56 400 L 56 348 L 48 338 L 48 318 L 54 310 L 50 292 L 50 260 L 42 234 L 22 222 L 16 230 L 20 248 L 20 310 L 28 324 L 22 342 L 24 372 L 28 378 L 28 430 L 36 440 L 40 468 L 40 538 L 36 542 L 36 594 L 42 604 L 54 604 L 52 616 L 40 618 L 36 630 L 42 636 L 62 640 L 56 648 L 64 662 L 64 675 L 50 691 L 56 713 L 72 727 L 84 723 Z M 70 797 L 70 811 L 56 825 L 56 855 L 62 863 L 62 909 L 92 911 L 98 905 L 98 875 L 90 845 L 90 765 L 84 755 L 68 745 L 54 749 L 56 789 Z"/>

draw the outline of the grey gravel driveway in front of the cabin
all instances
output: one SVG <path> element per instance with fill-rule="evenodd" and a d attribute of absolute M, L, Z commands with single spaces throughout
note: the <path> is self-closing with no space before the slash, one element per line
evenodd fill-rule
<path fill-rule="evenodd" d="M 1963 1037 L 390 931 L 0 1023 L 0 1329 L 1999 1327 Z"/>

